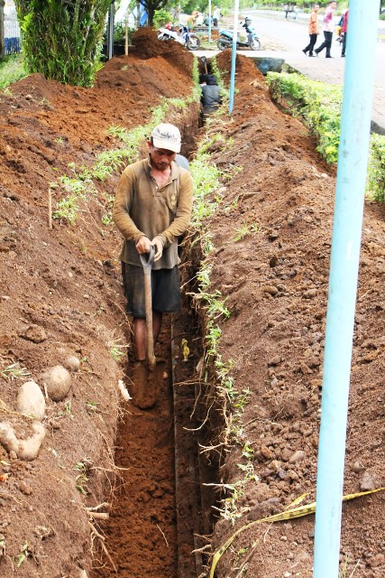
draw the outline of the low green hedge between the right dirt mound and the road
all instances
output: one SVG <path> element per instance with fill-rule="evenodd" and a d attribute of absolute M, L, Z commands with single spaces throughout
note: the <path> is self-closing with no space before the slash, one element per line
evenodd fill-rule
<path fill-rule="evenodd" d="M 317 151 L 327 163 L 337 163 L 340 142 L 343 89 L 309 80 L 300 74 L 269 72 L 268 84 L 273 98 L 289 107 L 316 135 Z M 368 196 L 385 200 L 385 136 L 371 135 L 367 179 Z"/>

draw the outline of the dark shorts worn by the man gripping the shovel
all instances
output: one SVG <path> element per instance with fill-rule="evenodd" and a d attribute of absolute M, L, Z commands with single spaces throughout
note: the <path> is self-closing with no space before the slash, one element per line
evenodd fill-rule
<path fill-rule="evenodd" d="M 126 312 L 133 317 L 146 316 L 144 273 L 142 267 L 122 263 Z M 151 271 L 152 310 L 160 313 L 179 311 L 180 286 L 178 265 L 173 269 Z"/>

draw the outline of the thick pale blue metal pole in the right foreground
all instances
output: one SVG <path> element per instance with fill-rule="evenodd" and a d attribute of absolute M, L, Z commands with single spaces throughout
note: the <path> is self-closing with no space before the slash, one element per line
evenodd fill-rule
<path fill-rule="evenodd" d="M 351 0 L 326 317 L 314 578 L 337 578 L 344 452 L 379 0 Z M 363 42 L 362 42 L 363 39 Z"/>

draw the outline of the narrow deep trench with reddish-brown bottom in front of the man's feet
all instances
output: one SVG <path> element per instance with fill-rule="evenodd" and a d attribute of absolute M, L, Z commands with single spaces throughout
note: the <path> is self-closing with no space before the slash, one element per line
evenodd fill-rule
<path fill-rule="evenodd" d="M 188 132 L 186 156 L 196 137 Z M 197 550 L 209 540 L 216 500 L 205 482 L 216 480 L 218 464 L 199 452 L 210 439 L 210 422 L 197 378 L 202 336 L 187 294 L 196 289 L 191 280 L 200 256 L 196 248 L 192 257 L 180 240 L 181 311 L 165 316 L 155 349 L 166 360 L 157 404 L 148 410 L 128 404 L 118 425 L 119 474 L 110 517 L 99 525 L 109 556 L 96 554 L 94 578 L 197 578 L 203 572 L 205 560 Z M 128 359 L 128 376 L 132 363 Z M 126 385 L 130 390 L 130 378 Z"/>

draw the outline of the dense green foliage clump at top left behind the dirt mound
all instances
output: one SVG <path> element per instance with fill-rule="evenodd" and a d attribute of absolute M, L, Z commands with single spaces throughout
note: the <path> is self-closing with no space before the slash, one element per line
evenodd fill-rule
<path fill-rule="evenodd" d="M 92 86 L 111 0 L 15 0 L 30 72 Z"/>

